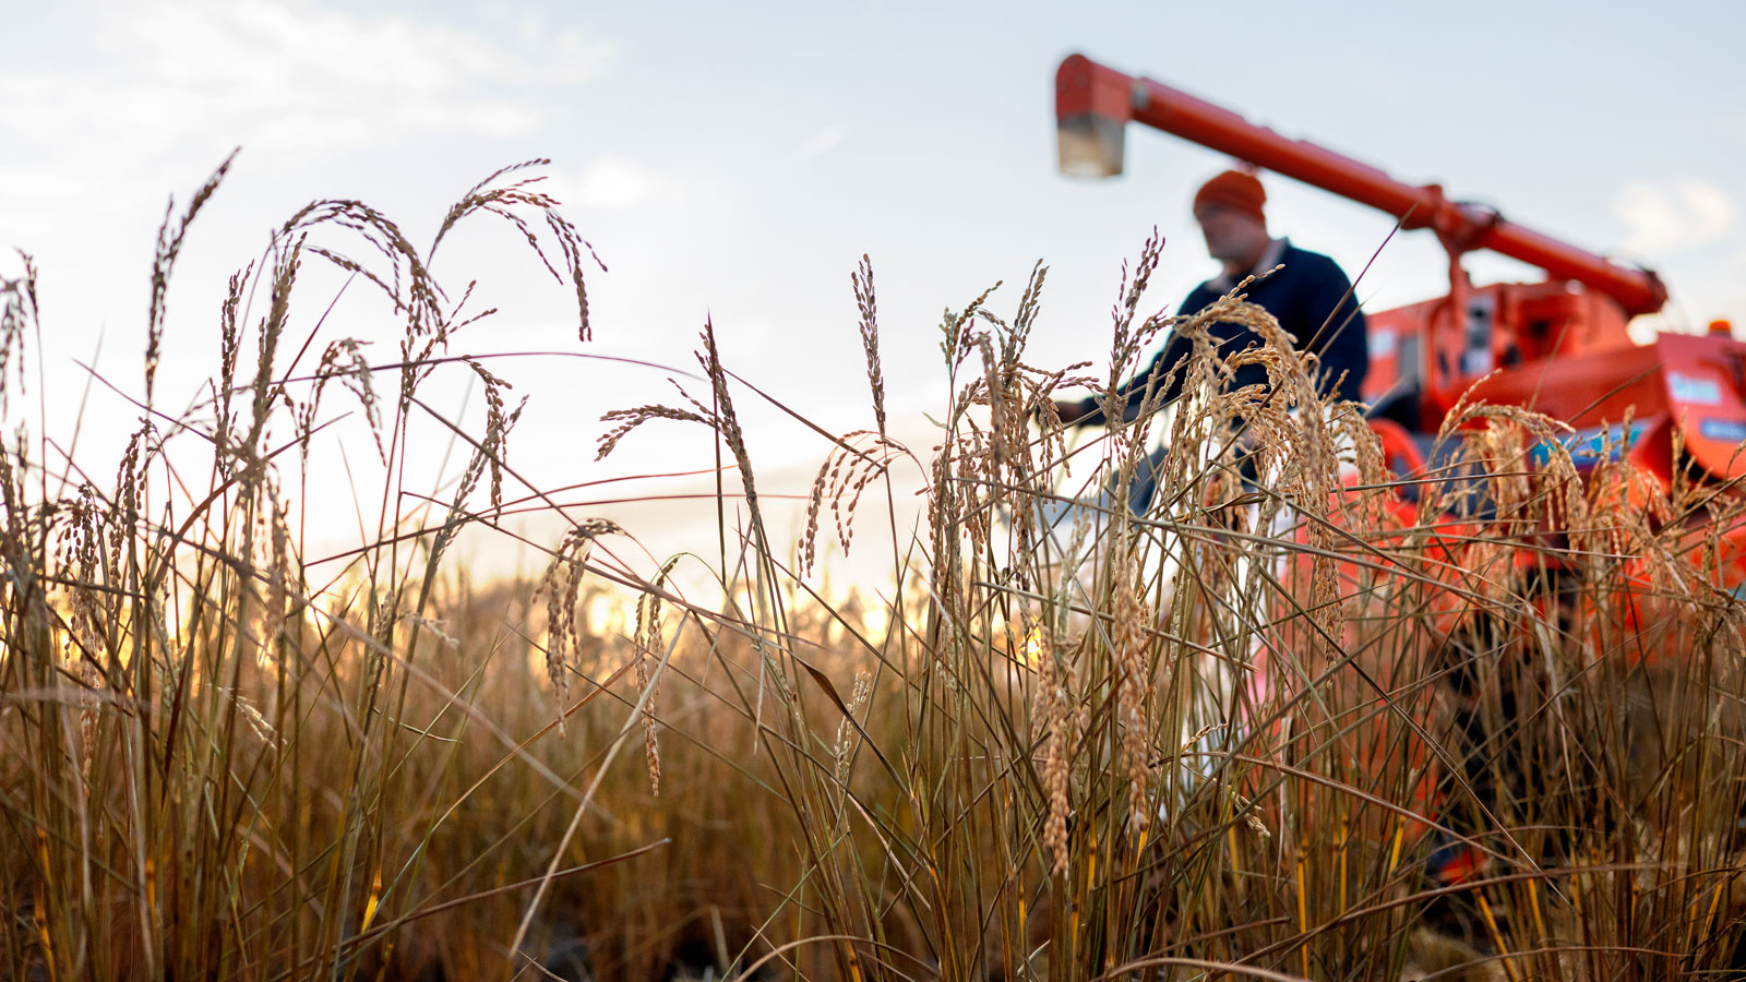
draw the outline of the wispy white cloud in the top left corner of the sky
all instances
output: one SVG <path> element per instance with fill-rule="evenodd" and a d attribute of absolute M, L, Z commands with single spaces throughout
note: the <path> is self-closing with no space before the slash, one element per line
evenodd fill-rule
<path fill-rule="evenodd" d="M 541 122 L 526 89 L 595 77 L 609 59 L 608 42 L 578 31 L 506 49 L 311 3 L 124 3 L 89 63 L 0 72 L 0 138 L 40 157 L 155 152 L 213 135 L 295 154 L 407 135 L 513 136 Z"/>

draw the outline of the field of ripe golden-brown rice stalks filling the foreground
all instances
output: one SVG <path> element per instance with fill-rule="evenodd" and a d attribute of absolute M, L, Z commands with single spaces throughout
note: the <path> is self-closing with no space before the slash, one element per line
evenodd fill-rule
<path fill-rule="evenodd" d="M 1119 271 L 1107 372 L 1102 349 L 1027 362 L 1042 264 L 945 311 L 925 447 L 890 435 L 863 262 L 866 379 L 843 386 L 868 386 L 871 426 L 822 433 L 798 547 L 770 496 L 807 489 L 760 481 L 735 405 L 766 397 L 705 323 L 674 353 L 704 381 L 609 412 L 595 451 L 718 442 L 721 528 L 695 547 L 714 589 L 677 585 L 695 556 L 618 561 L 637 529 L 606 521 L 534 542 L 543 575 L 475 580 L 457 535 L 550 498 L 517 475 L 538 449 L 510 439 L 510 369 L 450 344 L 484 304 L 431 253 L 512 222 L 587 342 L 611 330 L 592 246 L 538 163 L 473 187 L 426 250 L 314 203 L 232 278 L 211 395 L 175 416 L 164 297 L 223 169 L 159 234 L 113 474 L 75 468 L 65 433 L 0 439 L 5 979 L 1746 973 L 1725 489 L 1578 467 L 1557 421 L 1484 404 L 1402 481 L 1240 292 L 1147 316 L 1154 239 Z M 307 264 L 386 299 L 398 351 L 318 332 L 299 353 L 293 311 L 333 299 L 300 292 Z M 17 404 L 54 328 L 28 257 L 0 311 Z M 1217 351 L 1220 320 L 1269 344 Z M 1079 439 L 1051 398 L 1112 393 L 1172 330 L 1196 355 L 1175 404 L 1144 397 L 1172 453 L 1131 514 L 1151 428 Z M 1226 391 L 1241 363 L 1271 388 Z M 482 418 L 421 400 L 468 374 Z M 290 515 L 346 481 L 307 474 L 342 412 L 388 488 L 428 465 L 417 428 L 466 465 L 447 500 L 384 494 L 374 536 L 316 570 Z M 915 528 L 868 521 L 899 468 L 925 475 Z M 824 592 L 828 549 L 890 573 Z"/>

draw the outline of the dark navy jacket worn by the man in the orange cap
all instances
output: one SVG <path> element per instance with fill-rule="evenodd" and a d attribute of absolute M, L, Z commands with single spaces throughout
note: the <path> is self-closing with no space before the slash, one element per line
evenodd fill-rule
<path fill-rule="evenodd" d="M 1289 239 L 1275 239 L 1273 248 L 1257 264 L 1259 269 L 1285 266 L 1278 273 L 1248 285 L 1248 301 L 1259 304 L 1275 318 L 1280 327 L 1292 335 L 1299 351 L 1311 351 L 1320 358 L 1316 372 L 1316 391 L 1337 395 L 1339 398 L 1358 398 L 1358 386 L 1371 369 L 1371 351 L 1365 341 L 1364 311 L 1358 309 L 1351 294 L 1351 281 L 1332 259 L 1297 248 Z M 1217 301 L 1236 287 L 1227 276 L 1208 280 L 1189 292 L 1182 301 L 1180 315 L 1200 313 L 1206 304 Z M 1250 344 L 1261 344 L 1261 335 L 1240 323 L 1208 325 L 1213 344 L 1220 355 L 1241 351 Z M 1163 386 L 1170 369 L 1177 367 L 1193 353 L 1194 346 L 1187 337 L 1172 335 L 1165 349 L 1152 358 L 1142 372 L 1123 383 L 1121 393 L 1128 397 L 1126 418 L 1138 416 L 1138 404 L 1145 395 L 1147 379 Z M 1180 395 L 1184 372 L 1168 379 L 1165 402 Z M 1247 384 L 1266 384 L 1268 370 L 1262 365 L 1243 365 L 1236 370 L 1231 388 Z M 1337 388 L 1336 388 L 1337 386 Z M 1081 402 L 1079 425 L 1103 421 L 1096 398 Z"/>

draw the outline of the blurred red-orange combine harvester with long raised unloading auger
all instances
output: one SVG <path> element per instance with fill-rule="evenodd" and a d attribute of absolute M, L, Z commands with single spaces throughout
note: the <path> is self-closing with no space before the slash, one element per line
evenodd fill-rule
<path fill-rule="evenodd" d="M 1676 481 L 1711 491 L 1699 496 L 1709 505 L 1667 521 L 1690 529 L 1676 538 L 1688 543 L 1687 557 L 1706 568 L 1711 587 L 1736 596 L 1746 589 L 1746 522 L 1730 508 L 1746 489 L 1746 342 L 1734 341 L 1725 322 L 1708 334 L 1662 332 L 1638 344 L 1629 320 L 1667 299 L 1653 273 L 1081 54 L 1056 72 L 1055 112 L 1067 175 L 1119 175 L 1128 122 L 1140 122 L 1378 208 L 1402 229 L 1432 229 L 1449 253 L 1449 294 L 1367 311 L 1371 370 L 1362 395 L 1390 467 L 1423 474 L 1428 433 L 1463 397 L 1531 409 L 1575 428 L 1564 449 L 1582 467 L 1606 458 L 1650 475 L 1662 491 Z M 1547 280 L 1475 287 L 1461 267 L 1475 250 L 1540 267 Z"/>

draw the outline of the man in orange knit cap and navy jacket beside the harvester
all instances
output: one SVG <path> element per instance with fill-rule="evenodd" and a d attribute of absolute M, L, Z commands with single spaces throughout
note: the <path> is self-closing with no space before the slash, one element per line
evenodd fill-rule
<path fill-rule="evenodd" d="M 1332 259 L 1297 248 L 1290 239 L 1269 236 L 1262 210 L 1266 201 L 1268 192 L 1261 187 L 1261 180 L 1243 171 L 1224 171 L 1194 194 L 1194 220 L 1206 238 L 1206 253 L 1224 269 L 1191 290 L 1177 313 L 1184 316 L 1198 313 L 1234 290 L 1243 278 L 1257 276 L 1247 287 L 1248 301 L 1278 318 L 1280 327 L 1301 351 L 1316 356 L 1320 363 L 1316 390 L 1323 397 L 1357 400 L 1371 358 L 1364 311 L 1351 295 L 1351 281 Z M 1275 267 L 1280 269 L 1273 271 Z M 1241 323 L 1213 323 L 1208 325 L 1208 332 L 1222 355 L 1262 342 L 1259 334 Z M 1123 383 L 1119 395 L 1138 395 L 1151 384 L 1163 393 L 1163 402 L 1170 402 L 1179 395 L 1186 374 L 1175 369 L 1184 365 L 1191 353 L 1193 342 L 1187 337 L 1172 335 L 1151 365 Z M 1262 365 L 1243 365 L 1229 381 L 1231 388 L 1266 383 L 1268 370 Z M 1128 423 L 1138 418 L 1140 402 L 1128 400 Z M 1072 426 L 1103 423 L 1103 411 L 1095 397 L 1056 402 L 1055 411 L 1062 423 Z M 1137 477 L 1137 488 L 1130 496 L 1135 510 L 1144 510 L 1151 501 L 1152 468 L 1145 470 L 1147 474 Z"/>

